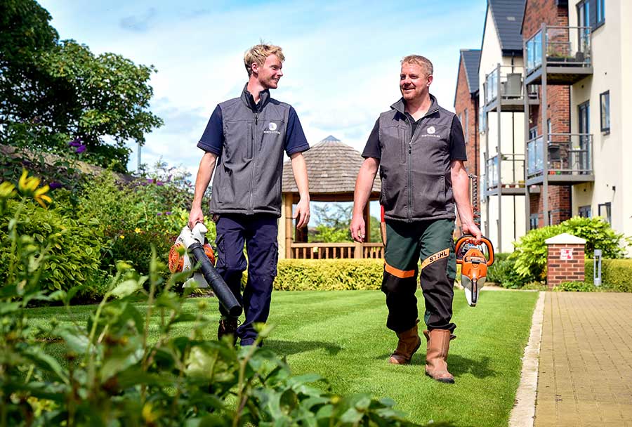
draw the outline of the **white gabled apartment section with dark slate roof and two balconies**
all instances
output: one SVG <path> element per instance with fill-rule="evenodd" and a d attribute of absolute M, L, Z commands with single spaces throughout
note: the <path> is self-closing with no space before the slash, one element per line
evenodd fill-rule
<path fill-rule="evenodd" d="M 525 234 L 524 63 L 520 26 L 525 2 L 489 0 L 479 78 L 481 225 L 496 251 L 513 251 Z"/>

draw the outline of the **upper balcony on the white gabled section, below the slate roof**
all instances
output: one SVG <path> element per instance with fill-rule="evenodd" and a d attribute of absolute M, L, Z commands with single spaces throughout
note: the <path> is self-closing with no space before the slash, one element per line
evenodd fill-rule
<path fill-rule="evenodd" d="M 498 65 L 494 71 L 485 76 L 485 111 L 500 110 L 508 112 L 522 112 L 525 110 L 525 98 L 522 87 L 522 67 Z M 535 86 L 527 89 L 527 103 L 539 104 L 538 92 Z"/>

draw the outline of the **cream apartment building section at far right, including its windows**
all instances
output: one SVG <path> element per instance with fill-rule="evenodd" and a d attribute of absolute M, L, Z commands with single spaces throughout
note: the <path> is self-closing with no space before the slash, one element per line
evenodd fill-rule
<path fill-rule="evenodd" d="M 582 140 L 588 143 L 587 166 L 594 176 L 572 186 L 572 215 L 602 216 L 630 236 L 632 2 L 569 1 L 568 20 L 581 34 L 570 39 L 570 48 L 586 51 L 592 70 L 570 86 L 571 133 L 579 135 L 580 146 Z"/>

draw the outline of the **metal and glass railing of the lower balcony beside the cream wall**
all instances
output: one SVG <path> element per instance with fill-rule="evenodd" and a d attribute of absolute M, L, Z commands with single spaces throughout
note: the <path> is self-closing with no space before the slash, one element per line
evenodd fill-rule
<path fill-rule="evenodd" d="M 591 133 L 549 133 L 548 164 L 550 175 L 588 175 L 593 173 L 593 136 Z M 527 142 L 527 176 L 544 173 L 544 136 Z"/>

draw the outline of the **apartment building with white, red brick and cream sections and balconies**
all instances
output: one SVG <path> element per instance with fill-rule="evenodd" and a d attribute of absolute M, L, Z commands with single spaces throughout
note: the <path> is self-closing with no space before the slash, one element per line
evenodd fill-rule
<path fill-rule="evenodd" d="M 497 250 L 577 215 L 632 235 L 630 23 L 631 1 L 487 1 L 479 170 L 483 231 Z"/>

